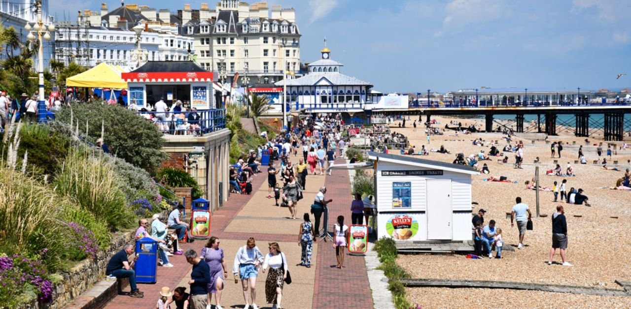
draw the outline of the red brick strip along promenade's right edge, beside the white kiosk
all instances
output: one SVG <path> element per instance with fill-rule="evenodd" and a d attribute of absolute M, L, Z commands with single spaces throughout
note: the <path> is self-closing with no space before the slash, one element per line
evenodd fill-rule
<path fill-rule="evenodd" d="M 346 163 L 338 158 L 336 164 Z M 344 216 L 344 224 L 351 224 L 351 188 L 348 172 L 335 170 L 326 177 L 326 199 L 329 203 L 329 225 L 327 230 L 333 233 L 333 225 L 339 215 Z M 319 308 L 373 308 L 372 294 L 368 273 L 363 256 L 351 256 L 346 251 L 344 268 L 336 268 L 335 249 L 331 242 L 319 242 L 318 259 L 315 268 L 314 309 Z"/>

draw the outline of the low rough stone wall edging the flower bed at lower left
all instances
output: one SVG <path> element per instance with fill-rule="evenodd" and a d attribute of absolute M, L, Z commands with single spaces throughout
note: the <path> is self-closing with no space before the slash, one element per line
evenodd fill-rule
<path fill-rule="evenodd" d="M 85 259 L 74 266 L 71 271 L 61 273 L 61 281 L 54 286 L 52 303 L 44 304 L 33 300 L 32 303 L 23 308 L 65 308 L 70 301 L 105 277 L 107 262 L 116 252 L 122 250 L 123 245 L 133 244 L 134 232 L 135 229 L 113 235 L 112 244 L 110 244 L 110 249 L 107 252 L 101 251 L 95 260 Z"/>

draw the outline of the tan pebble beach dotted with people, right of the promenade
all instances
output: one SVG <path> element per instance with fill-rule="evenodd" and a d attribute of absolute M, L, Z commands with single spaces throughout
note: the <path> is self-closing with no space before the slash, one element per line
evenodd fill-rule
<path fill-rule="evenodd" d="M 470 154 L 478 154 L 480 149 L 488 154 L 490 140 L 499 140 L 498 149 L 502 149 L 507 142 L 501 133 L 471 133 L 461 134 L 456 137 L 454 131 L 445 130 L 444 135 L 432 135 L 430 143 L 427 143 L 425 127 L 418 123 L 418 116 L 406 121 L 406 128 L 399 128 L 399 121 L 391 123 L 393 132 L 402 133 L 410 139 L 410 144 L 420 150 L 422 145 L 427 149 L 439 149 L 444 145 L 451 154 L 430 152 L 422 159 L 452 162 L 459 152 L 465 157 Z M 451 120 L 460 121 L 471 125 L 483 121 L 467 120 L 462 118 L 448 118 L 432 116 L 440 124 L 433 125 L 444 128 L 445 123 Z M 417 121 L 416 131 L 412 128 L 413 121 Z M 425 117 L 423 116 L 423 120 Z M 529 124 L 528 124 L 529 125 Z M 451 125 L 450 125 L 451 126 Z M 524 124 L 526 126 L 526 124 Z M 472 145 L 472 140 L 482 138 L 485 141 L 483 147 Z M 473 176 L 472 200 L 477 205 L 473 206 L 473 214 L 480 208 L 487 211 L 485 222 L 495 220 L 496 227 L 502 228 L 502 236 L 505 244 L 517 247 L 519 232 L 517 227 L 510 227 L 511 208 L 515 205 L 515 198 L 520 196 L 524 203 L 529 205 L 533 212 L 534 229 L 526 233 L 524 245 L 521 250 L 505 250 L 503 259 L 466 259 L 464 254 L 410 254 L 399 255 L 398 263 L 411 274 L 411 278 L 434 279 L 471 279 L 485 281 L 514 281 L 522 283 L 539 284 L 565 284 L 573 286 L 589 286 L 610 289 L 621 289 L 614 283 L 616 279 L 631 281 L 631 255 L 628 248 L 631 243 L 631 191 L 620 191 L 613 188 L 616 179 L 623 176 L 631 159 L 631 150 L 620 150 L 622 142 L 604 142 L 596 137 L 589 137 L 589 145 L 586 145 L 584 137 L 574 137 L 571 132 L 561 132 L 558 136 L 548 137 L 550 143 L 545 142 L 543 134 L 517 133 L 512 138 L 512 145 L 520 140 L 524 144 L 523 169 L 514 168 L 514 154 L 506 152 L 509 162 L 498 162 L 503 157 L 491 157 L 490 160 L 478 162 L 478 166 L 486 163 L 490 174 Z M 533 142 L 534 141 L 534 142 Z M 562 142 L 563 151 L 561 158 L 555 154 L 550 155 L 552 142 Z M 619 171 L 603 169 L 601 164 L 593 164 L 598 159 L 594 143 L 603 142 L 603 151 L 606 153 L 607 143 L 615 145 L 615 154 L 608 160 L 608 167 L 617 167 Z M 627 141 L 628 142 L 628 141 Z M 575 164 L 578 159 L 579 145 L 583 145 L 583 153 L 587 158 L 587 164 Z M 398 150 L 392 150 L 391 153 Z M 603 154 L 604 155 L 604 154 Z M 534 164 L 534 159 L 540 158 L 540 163 Z M 554 169 L 554 160 L 558 160 L 563 171 L 567 164 L 574 167 L 575 176 L 546 176 L 545 172 Z M 618 164 L 614 165 L 613 161 Z M 554 202 L 551 191 L 540 191 L 540 214 L 536 216 L 536 192 L 526 188 L 526 181 L 533 179 L 535 168 L 539 167 L 540 186 L 552 188 L 553 182 L 561 183 L 567 179 L 567 189 L 574 187 L 584 190 L 589 197 L 591 207 L 585 205 L 570 205 Z M 488 176 L 506 176 L 515 179 L 517 183 L 498 183 L 483 181 Z M 551 214 L 556 211 L 557 205 L 563 205 L 567 217 L 569 245 L 566 251 L 567 259 L 574 264 L 572 267 L 560 265 L 560 256 L 555 256 L 555 264 L 549 266 L 548 252 L 551 247 Z M 615 296 L 590 296 L 572 295 L 565 293 L 550 293 L 541 291 L 516 291 L 507 289 L 475 289 L 475 288 L 408 288 L 408 300 L 423 308 L 440 307 L 464 307 L 470 305 L 487 306 L 495 303 L 502 308 L 528 307 L 631 307 L 631 297 Z"/>

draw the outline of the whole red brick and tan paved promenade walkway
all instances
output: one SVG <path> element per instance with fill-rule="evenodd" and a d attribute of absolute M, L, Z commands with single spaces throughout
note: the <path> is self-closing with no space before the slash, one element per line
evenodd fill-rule
<path fill-rule="evenodd" d="M 297 160 L 297 159 L 295 159 Z M 339 159 L 338 164 L 343 160 Z M 304 199 L 298 202 L 297 217 L 300 220 L 288 219 L 287 208 L 274 206 L 274 199 L 268 199 L 268 184 L 264 172 L 254 177 L 251 195 L 232 194 L 220 210 L 211 218 L 211 235 L 221 240 L 227 262 L 228 279 L 223 290 L 221 305 L 224 308 L 243 308 L 244 300 L 240 284 L 232 281 L 232 262 L 237 249 L 245 244 L 245 240 L 254 237 L 257 247 L 263 254 L 268 253 L 266 242 L 279 242 L 285 252 L 293 283 L 283 290 L 283 308 L 372 308 L 369 281 L 363 257 L 345 257 L 345 269 L 337 269 L 335 250 L 331 242 L 314 244 L 313 264 L 315 267 L 296 266 L 300 263 L 300 246 L 297 243 L 298 230 L 302 223 L 302 214 L 308 213 L 317 190 L 326 183 L 327 198 L 333 198 L 329 205 L 328 230 L 333 230 L 335 218 L 345 216 L 345 223 L 350 225 L 350 183 L 348 172 L 334 171 L 333 176 L 307 176 L 307 189 Z M 313 219 L 313 218 L 312 218 Z M 195 249 L 198 252 L 205 245 L 204 240 L 196 240 L 192 244 L 182 245 L 183 249 Z M 144 298 L 131 298 L 119 295 L 110 301 L 106 308 L 153 308 L 159 298 L 162 286 L 174 289 L 177 286 L 188 288 L 191 265 L 184 256 L 170 257 L 175 267 L 158 267 L 156 284 L 139 284 Z M 259 272 L 257 283 L 257 305 L 259 308 L 271 308 L 265 303 L 264 279 L 266 274 Z M 127 291 L 129 288 L 127 288 Z M 188 290 L 188 289 L 187 289 Z M 213 304 L 215 299 L 213 298 Z"/>

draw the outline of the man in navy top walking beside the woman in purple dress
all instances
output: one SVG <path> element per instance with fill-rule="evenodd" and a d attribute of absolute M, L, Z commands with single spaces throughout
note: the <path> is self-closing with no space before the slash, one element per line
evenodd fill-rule
<path fill-rule="evenodd" d="M 189 264 L 192 264 L 191 271 L 191 296 L 189 301 L 191 308 L 206 308 L 208 304 L 208 283 L 210 283 L 210 267 L 208 263 L 198 257 L 194 249 L 188 249 L 184 252 L 184 257 Z"/>

